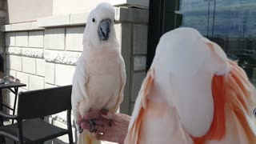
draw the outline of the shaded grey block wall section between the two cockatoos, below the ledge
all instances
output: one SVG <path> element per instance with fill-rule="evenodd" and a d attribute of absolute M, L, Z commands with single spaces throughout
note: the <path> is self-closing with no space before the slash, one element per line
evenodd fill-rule
<path fill-rule="evenodd" d="M 127 79 L 121 112 L 131 114 L 142 80 L 146 77 L 146 24 L 122 24 L 122 50 L 126 61 Z"/>

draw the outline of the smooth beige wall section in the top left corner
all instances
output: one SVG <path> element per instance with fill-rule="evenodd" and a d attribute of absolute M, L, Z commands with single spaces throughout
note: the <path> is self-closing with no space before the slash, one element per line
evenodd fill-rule
<path fill-rule="evenodd" d="M 7 0 L 7 22 L 31 22 L 53 14 L 53 0 Z"/>

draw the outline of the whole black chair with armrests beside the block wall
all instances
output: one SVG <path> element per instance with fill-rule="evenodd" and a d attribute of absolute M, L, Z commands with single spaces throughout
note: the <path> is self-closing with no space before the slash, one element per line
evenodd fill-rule
<path fill-rule="evenodd" d="M 43 90 L 31 90 L 19 93 L 18 114 L 4 114 L 3 118 L 15 119 L 18 122 L 0 126 L 0 136 L 10 138 L 19 144 L 42 143 L 64 134 L 69 135 L 73 143 L 71 114 L 72 86 L 61 86 Z M 67 110 L 67 129 L 51 125 L 44 117 Z"/>

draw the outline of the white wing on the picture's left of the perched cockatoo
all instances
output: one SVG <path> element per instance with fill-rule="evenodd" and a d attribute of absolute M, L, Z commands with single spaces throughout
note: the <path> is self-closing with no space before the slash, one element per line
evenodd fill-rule
<path fill-rule="evenodd" d="M 86 93 L 86 82 L 88 81 L 88 74 L 86 74 L 86 64 L 82 58 L 78 58 L 77 66 L 74 71 L 73 82 L 72 82 L 72 110 L 74 113 L 74 120 L 80 115 L 78 111 L 78 104 L 82 102 L 83 99 L 88 99 Z"/>

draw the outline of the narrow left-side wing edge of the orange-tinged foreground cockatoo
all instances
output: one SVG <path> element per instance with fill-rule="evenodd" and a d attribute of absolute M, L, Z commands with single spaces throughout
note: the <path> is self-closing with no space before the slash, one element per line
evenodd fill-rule
<path fill-rule="evenodd" d="M 138 143 L 138 134 L 140 125 L 142 124 L 142 113 L 146 109 L 146 96 L 150 92 L 150 87 L 154 82 L 154 70 L 149 70 L 146 78 L 142 82 L 141 90 L 138 93 L 138 98 L 135 102 L 134 112 L 130 119 L 128 133 L 125 143 Z"/>

